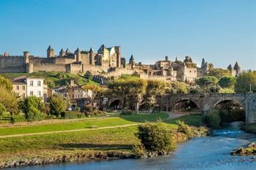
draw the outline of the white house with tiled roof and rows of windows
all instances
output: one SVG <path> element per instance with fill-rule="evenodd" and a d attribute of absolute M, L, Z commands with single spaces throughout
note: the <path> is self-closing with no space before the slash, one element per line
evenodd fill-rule
<path fill-rule="evenodd" d="M 44 93 L 47 90 L 44 89 L 44 79 L 42 78 L 22 76 L 11 80 L 11 82 L 13 91 L 21 98 L 27 96 L 47 97 L 47 93 Z"/>

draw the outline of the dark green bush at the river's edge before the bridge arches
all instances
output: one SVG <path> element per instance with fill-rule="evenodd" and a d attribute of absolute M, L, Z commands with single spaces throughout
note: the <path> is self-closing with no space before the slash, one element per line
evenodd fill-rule
<path fill-rule="evenodd" d="M 221 121 L 222 119 L 217 110 L 212 110 L 203 116 L 203 123 L 205 123 L 208 128 L 220 128 Z"/>

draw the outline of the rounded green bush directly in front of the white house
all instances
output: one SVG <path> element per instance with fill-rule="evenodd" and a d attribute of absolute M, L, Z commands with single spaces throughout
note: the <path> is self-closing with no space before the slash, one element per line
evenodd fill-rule
<path fill-rule="evenodd" d="M 26 97 L 24 101 L 20 101 L 20 109 L 26 115 L 26 120 L 36 121 L 36 120 L 44 120 L 46 114 L 43 111 L 45 107 L 42 98 L 38 98 L 36 96 Z"/>

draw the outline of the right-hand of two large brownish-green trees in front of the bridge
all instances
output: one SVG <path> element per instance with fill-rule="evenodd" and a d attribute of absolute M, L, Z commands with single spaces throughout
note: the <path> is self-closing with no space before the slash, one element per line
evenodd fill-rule
<path fill-rule="evenodd" d="M 146 94 L 144 96 L 144 103 L 148 108 L 154 108 L 157 103 L 157 96 L 165 93 L 166 83 L 159 80 L 148 80 L 146 85 Z"/>

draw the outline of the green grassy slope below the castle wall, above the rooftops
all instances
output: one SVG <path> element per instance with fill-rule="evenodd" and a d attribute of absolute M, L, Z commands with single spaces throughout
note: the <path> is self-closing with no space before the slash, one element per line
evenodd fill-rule
<path fill-rule="evenodd" d="M 77 82 L 78 85 L 86 85 L 86 84 L 98 85 L 97 82 L 88 80 L 85 77 L 82 77 L 80 75 L 68 74 L 68 73 L 62 73 L 62 72 L 33 72 L 31 74 L 28 74 L 28 73 L 1 73 L 0 75 L 3 77 L 6 77 L 8 79 L 13 79 L 15 77 L 20 77 L 23 75 L 42 77 L 42 78 L 45 78 L 45 82 L 51 88 L 59 87 L 61 85 L 69 85 L 70 80 L 75 80 L 75 82 Z"/>

